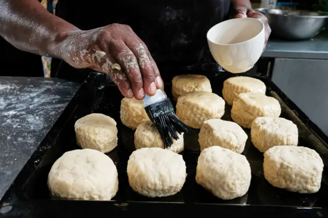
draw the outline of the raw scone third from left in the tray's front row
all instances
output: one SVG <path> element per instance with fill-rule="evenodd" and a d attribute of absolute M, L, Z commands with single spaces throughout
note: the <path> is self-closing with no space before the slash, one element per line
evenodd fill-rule
<path fill-rule="evenodd" d="M 247 193 L 251 167 L 243 155 L 219 146 L 208 147 L 200 152 L 196 182 L 216 197 L 231 200 Z"/>

